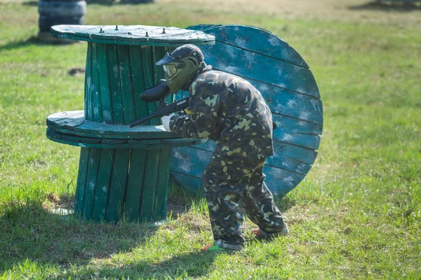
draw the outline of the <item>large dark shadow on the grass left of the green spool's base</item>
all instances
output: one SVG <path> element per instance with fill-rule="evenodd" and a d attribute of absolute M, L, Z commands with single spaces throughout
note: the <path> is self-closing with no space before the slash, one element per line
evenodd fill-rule
<path fill-rule="evenodd" d="M 150 223 L 84 221 L 75 215 L 47 211 L 39 202 L 9 202 L 4 207 L 0 216 L 0 271 L 27 259 L 48 265 L 87 265 L 93 258 L 130 252 L 157 230 Z"/>

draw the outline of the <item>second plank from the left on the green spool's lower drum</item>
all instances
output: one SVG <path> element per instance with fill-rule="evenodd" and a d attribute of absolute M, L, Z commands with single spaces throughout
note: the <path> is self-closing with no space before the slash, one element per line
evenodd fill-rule
<path fill-rule="evenodd" d="M 98 179 L 98 169 L 100 167 L 101 150 L 91 148 L 88 162 L 88 172 L 86 174 L 86 186 L 83 200 L 83 218 L 91 220 L 93 214 L 93 204 L 95 203 L 95 188 Z"/>

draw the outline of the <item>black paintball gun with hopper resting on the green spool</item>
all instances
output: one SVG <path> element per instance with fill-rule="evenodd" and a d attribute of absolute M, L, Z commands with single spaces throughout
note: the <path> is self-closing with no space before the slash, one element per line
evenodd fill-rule
<path fill-rule="evenodd" d="M 142 92 L 142 94 L 140 94 L 140 99 L 142 99 L 145 102 L 159 102 L 160 108 L 148 116 L 140 118 L 139 120 L 135 120 L 133 123 L 130 124 L 130 127 L 135 127 L 136 125 L 145 123 L 151 118 L 168 116 L 171 113 L 187 109 L 187 107 L 189 106 L 189 97 L 185 97 L 168 105 L 165 99 L 170 93 L 171 91 L 168 85 L 166 85 L 165 80 L 161 80 L 161 83 L 158 83 L 153 87 L 149 87 L 144 92 Z"/>

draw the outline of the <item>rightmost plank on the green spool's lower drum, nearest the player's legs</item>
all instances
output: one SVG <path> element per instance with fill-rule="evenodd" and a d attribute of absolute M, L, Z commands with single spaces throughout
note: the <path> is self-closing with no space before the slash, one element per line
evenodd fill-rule
<path fill-rule="evenodd" d="M 158 176 L 156 179 L 156 193 L 154 205 L 154 220 L 166 217 L 166 202 L 168 196 L 168 181 L 170 178 L 171 148 L 161 148 L 159 155 Z"/>

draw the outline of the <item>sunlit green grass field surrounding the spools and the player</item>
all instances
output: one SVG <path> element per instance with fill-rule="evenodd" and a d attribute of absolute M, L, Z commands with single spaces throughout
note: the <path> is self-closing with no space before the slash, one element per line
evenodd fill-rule
<path fill-rule="evenodd" d="M 88 2 L 86 25 L 253 25 L 290 43 L 323 101 L 319 156 L 278 200 L 291 234 L 210 244 L 206 202 L 171 185 L 169 222 L 88 223 L 79 148 L 46 116 L 83 108 L 86 43 L 36 40 L 37 2 L 0 0 L 0 279 L 421 279 L 421 8 L 363 0 Z"/>

